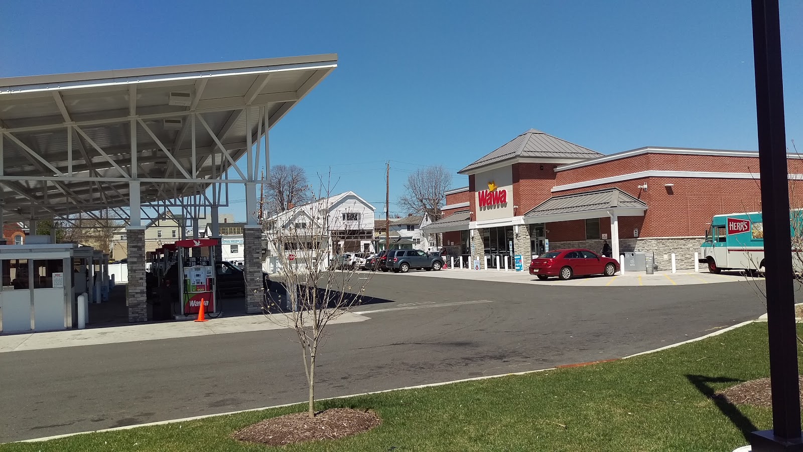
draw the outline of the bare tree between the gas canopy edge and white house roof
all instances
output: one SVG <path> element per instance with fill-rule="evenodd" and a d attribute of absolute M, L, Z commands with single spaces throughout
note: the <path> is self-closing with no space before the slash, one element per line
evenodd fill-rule
<path fill-rule="evenodd" d="M 307 173 L 296 165 L 274 165 L 271 177 L 263 185 L 264 217 L 279 214 L 291 208 L 309 202 L 312 197 Z"/>

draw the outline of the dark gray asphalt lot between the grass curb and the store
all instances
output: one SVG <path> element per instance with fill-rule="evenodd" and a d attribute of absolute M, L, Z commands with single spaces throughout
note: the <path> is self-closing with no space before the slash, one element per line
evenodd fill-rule
<path fill-rule="evenodd" d="M 560 287 L 371 278 L 368 319 L 331 325 L 332 397 L 628 356 L 755 319 L 749 283 Z M 251 317 L 255 318 L 255 317 Z M 132 327 L 128 327 L 132 328 Z M 287 329 L 0 353 L 0 442 L 303 401 Z"/>

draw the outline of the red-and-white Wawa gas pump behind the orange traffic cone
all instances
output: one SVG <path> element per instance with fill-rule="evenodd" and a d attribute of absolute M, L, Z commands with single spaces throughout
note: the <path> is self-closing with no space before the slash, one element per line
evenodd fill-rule
<path fill-rule="evenodd" d="M 214 289 L 217 272 L 214 271 L 214 248 L 218 245 L 215 238 L 195 238 L 179 240 L 175 243 L 178 253 L 178 274 L 182 275 L 179 289 L 181 316 L 198 315 L 203 305 L 204 312 L 217 314 Z M 209 248 L 206 256 L 193 256 L 193 248 Z"/>

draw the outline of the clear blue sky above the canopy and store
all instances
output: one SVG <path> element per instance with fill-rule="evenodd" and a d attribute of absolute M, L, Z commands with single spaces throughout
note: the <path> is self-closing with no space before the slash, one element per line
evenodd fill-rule
<path fill-rule="evenodd" d="M 803 2 L 781 15 L 787 137 L 803 145 Z M 0 0 L 0 23 L 0 76 L 337 53 L 272 129 L 271 164 L 312 179 L 332 165 L 377 215 L 385 161 L 394 202 L 421 165 L 456 171 L 528 128 L 601 153 L 757 146 L 747 0 Z M 243 197 L 222 211 L 243 219 Z"/>

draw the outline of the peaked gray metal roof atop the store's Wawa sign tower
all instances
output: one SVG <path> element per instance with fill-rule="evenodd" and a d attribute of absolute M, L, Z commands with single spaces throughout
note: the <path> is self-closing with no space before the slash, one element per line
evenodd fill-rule
<path fill-rule="evenodd" d="M 579 161 L 601 156 L 601 153 L 531 128 L 494 152 L 461 169 L 458 173 L 468 173 L 472 169 L 516 157 L 576 158 Z"/>

